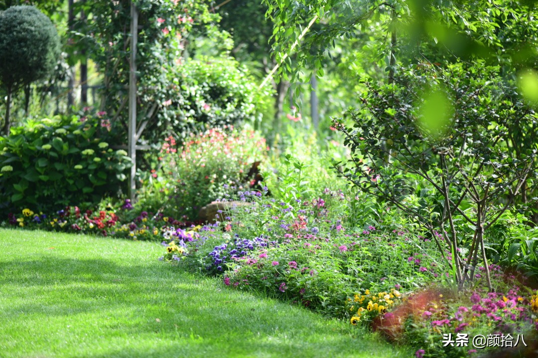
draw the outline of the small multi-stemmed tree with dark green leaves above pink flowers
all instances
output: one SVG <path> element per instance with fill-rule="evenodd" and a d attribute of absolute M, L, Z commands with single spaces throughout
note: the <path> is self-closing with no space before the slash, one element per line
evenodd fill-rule
<path fill-rule="evenodd" d="M 499 67 L 480 63 L 424 66 L 366 87 L 362 108 L 348 113 L 353 128 L 335 124 L 352 149 L 340 172 L 427 228 L 460 287 L 483 261 L 491 289 L 485 232 L 538 169 L 536 148 L 507 150 L 509 133 L 538 116 Z"/>

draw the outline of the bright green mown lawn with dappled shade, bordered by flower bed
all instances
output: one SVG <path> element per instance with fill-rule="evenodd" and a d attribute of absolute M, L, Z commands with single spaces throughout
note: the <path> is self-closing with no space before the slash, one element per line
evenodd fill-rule
<path fill-rule="evenodd" d="M 0 357 L 397 357 L 348 323 L 157 260 L 156 243 L 0 230 Z"/>

